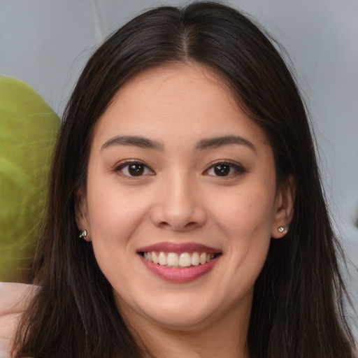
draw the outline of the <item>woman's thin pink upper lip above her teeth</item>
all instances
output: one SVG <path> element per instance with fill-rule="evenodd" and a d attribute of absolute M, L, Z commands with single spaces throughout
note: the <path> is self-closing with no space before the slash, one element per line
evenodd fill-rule
<path fill-rule="evenodd" d="M 169 241 L 154 243 L 152 245 L 144 246 L 143 248 L 138 248 L 137 250 L 137 252 L 150 251 L 176 252 L 177 254 L 182 252 L 221 252 L 216 248 L 210 248 L 209 246 L 202 245 L 201 243 L 171 243 Z"/>

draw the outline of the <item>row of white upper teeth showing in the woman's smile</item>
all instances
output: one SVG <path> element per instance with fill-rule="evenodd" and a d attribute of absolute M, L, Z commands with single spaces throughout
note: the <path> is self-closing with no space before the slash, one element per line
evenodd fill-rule
<path fill-rule="evenodd" d="M 176 252 L 144 252 L 144 259 L 167 267 L 189 267 L 203 265 L 210 262 L 214 258 L 213 253 L 207 252 L 182 252 L 178 255 Z"/>

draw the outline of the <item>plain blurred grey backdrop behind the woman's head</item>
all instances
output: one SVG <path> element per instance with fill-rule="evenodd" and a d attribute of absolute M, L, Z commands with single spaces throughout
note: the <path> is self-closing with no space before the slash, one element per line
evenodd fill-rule
<path fill-rule="evenodd" d="M 0 75 L 28 83 L 61 117 L 81 69 L 104 38 L 143 10 L 188 2 L 0 0 Z M 226 3 L 255 17 L 289 54 L 313 119 L 324 187 L 358 308 L 358 1 Z M 357 315 L 350 315 L 357 324 Z"/>

